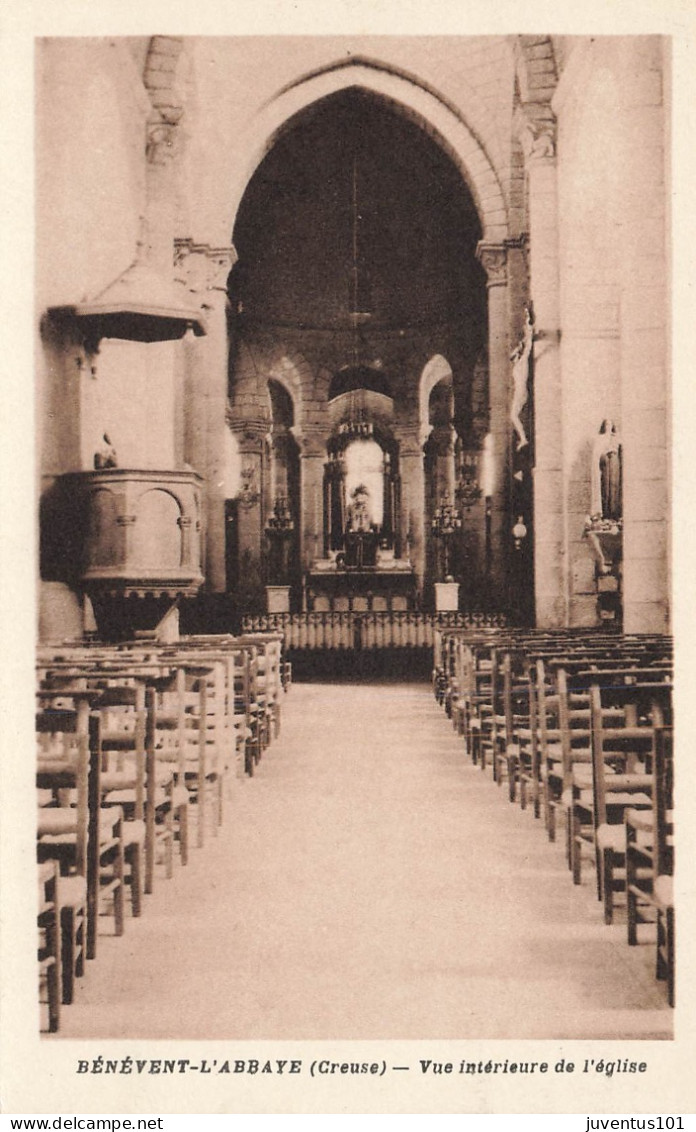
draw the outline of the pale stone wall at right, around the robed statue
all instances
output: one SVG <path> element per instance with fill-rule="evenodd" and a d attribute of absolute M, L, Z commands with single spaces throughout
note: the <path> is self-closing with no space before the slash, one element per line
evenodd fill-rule
<path fill-rule="evenodd" d="M 558 178 L 562 461 L 569 624 L 594 624 L 594 563 L 582 537 L 592 445 L 617 422 L 624 454 L 624 610 L 629 631 L 669 625 L 663 44 L 577 45 L 553 106 Z"/>

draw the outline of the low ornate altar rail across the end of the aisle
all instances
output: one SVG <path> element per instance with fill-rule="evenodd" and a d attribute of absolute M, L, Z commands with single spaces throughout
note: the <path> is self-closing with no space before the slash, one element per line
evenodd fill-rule
<path fill-rule="evenodd" d="M 442 628 L 505 626 L 504 614 L 413 610 L 342 610 L 320 614 L 256 614 L 242 620 L 242 632 L 281 632 L 285 649 L 431 649 Z"/>

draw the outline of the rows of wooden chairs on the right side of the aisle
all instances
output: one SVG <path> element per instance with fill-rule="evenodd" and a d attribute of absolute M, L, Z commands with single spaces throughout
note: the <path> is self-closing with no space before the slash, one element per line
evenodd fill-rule
<path fill-rule="evenodd" d="M 507 797 L 565 825 L 573 880 L 596 871 L 604 920 L 656 924 L 656 972 L 674 1000 L 672 649 L 660 635 L 445 631 L 436 698 Z"/>

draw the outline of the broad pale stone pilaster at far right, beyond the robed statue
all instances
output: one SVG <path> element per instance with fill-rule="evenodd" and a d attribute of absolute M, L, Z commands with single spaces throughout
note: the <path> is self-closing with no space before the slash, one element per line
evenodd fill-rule
<path fill-rule="evenodd" d="M 658 36 L 621 41 L 621 434 L 624 627 L 670 624 L 668 281 L 663 52 Z"/>

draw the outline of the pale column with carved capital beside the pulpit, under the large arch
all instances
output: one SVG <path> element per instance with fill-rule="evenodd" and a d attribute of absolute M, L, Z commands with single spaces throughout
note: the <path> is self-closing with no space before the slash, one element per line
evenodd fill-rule
<path fill-rule="evenodd" d="M 227 403 L 227 275 L 237 259 L 233 248 L 210 248 L 192 240 L 174 245 L 175 277 L 203 305 L 205 337 L 187 336 L 183 451 L 187 463 L 205 480 L 204 563 L 207 589 L 225 590 L 225 409 Z"/>

